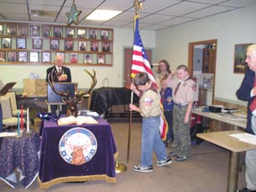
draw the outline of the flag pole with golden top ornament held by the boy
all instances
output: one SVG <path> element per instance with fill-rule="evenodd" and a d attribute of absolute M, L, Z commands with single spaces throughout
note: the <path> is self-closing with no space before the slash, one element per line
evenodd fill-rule
<path fill-rule="evenodd" d="M 139 9 L 142 9 L 142 3 L 138 0 L 134 0 L 133 3 L 135 7 L 135 16 L 133 17 L 133 23 L 134 23 L 134 32 L 135 32 L 135 20 L 139 17 Z M 132 84 L 133 84 L 133 77 L 132 77 Z M 131 103 L 133 103 L 133 92 L 131 92 Z M 128 143 L 127 143 L 127 157 L 126 162 L 128 164 L 129 158 L 130 158 L 130 145 L 131 145 L 131 132 L 132 132 L 132 110 L 130 110 L 130 116 L 129 116 L 129 130 L 128 130 Z"/>

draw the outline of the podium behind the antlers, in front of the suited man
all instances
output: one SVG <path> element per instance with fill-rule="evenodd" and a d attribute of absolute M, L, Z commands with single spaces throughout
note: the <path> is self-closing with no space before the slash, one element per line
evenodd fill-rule
<path fill-rule="evenodd" d="M 75 92 L 76 92 L 76 87 L 77 83 L 54 83 L 53 86 L 55 87 L 55 90 L 57 92 L 68 92 L 70 98 L 75 98 Z M 47 84 L 47 106 L 48 106 L 48 111 L 50 111 L 50 108 L 52 105 L 57 105 L 58 108 L 62 109 L 62 105 L 66 105 L 65 102 L 61 100 L 61 97 L 59 94 L 56 94 L 53 92 L 52 87 L 50 84 Z"/>

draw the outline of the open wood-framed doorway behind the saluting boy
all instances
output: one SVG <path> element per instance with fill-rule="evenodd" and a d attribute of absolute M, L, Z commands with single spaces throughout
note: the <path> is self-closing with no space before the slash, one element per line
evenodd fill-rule
<path fill-rule="evenodd" d="M 205 76 L 212 76 L 212 90 L 199 84 L 199 105 L 213 103 L 215 88 L 215 68 L 217 57 L 217 39 L 192 42 L 188 44 L 188 73 L 194 76 L 196 72 L 202 72 Z M 201 86 L 201 87 L 200 87 Z"/>

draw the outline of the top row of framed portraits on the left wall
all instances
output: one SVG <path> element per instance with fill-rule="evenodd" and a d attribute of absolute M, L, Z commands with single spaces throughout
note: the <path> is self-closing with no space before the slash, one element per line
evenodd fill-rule
<path fill-rule="evenodd" d="M 5 29 L 5 30 L 4 30 Z M 112 29 L 96 28 L 62 28 L 52 26 L 36 26 L 25 24 L 0 24 L 0 35 L 5 36 L 49 36 L 60 38 L 88 38 L 99 40 L 111 40 Z"/>

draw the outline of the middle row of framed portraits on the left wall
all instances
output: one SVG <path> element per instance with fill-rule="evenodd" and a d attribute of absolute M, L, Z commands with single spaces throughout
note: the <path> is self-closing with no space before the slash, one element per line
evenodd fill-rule
<path fill-rule="evenodd" d="M 90 45 L 90 46 L 89 46 Z M 78 41 L 78 51 L 87 51 L 87 52 L 99 52 L 101 45 L 101 52 L 110 52 L 111 43 L 106 42 L 86 42 L 86 41 Z M 33 49 L 43 49 L 43 39 L 34 38 L 32 42 Z M 12 38 L 2 38 L 2 48 L 3 49 L 12 49 Z M 26 38 L 17 37 L 16 38 L 16 48 L 17 49 L 27 49 L 27 41 Z M 50 40 L 50 50 L 60 50 L 60 40 L 59 39 L 51 39 Z M 65 40 L 64 41 L 64 50 L 66 51 L 74 51 L 74 41 L 73 40 Z"/>

